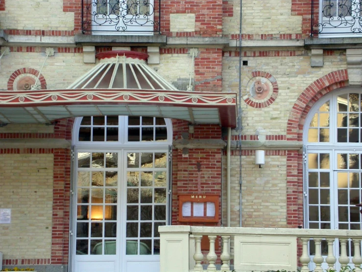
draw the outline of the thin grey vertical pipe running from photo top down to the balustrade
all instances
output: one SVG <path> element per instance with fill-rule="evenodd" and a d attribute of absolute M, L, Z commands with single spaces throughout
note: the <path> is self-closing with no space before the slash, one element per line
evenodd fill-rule
<path fill-rule="evenodd" d="M 240 184 L 240 202 L 239 202 L 239 218 L 240 227 L 242 227 L 242 179 L 241 179 L 241 33 L 242 33 L 242 0 L 240 0 L 240 28 L 239 28 L 239 111 L 238 111 L 238 129 L 239 129 L 239 184 Z"/>

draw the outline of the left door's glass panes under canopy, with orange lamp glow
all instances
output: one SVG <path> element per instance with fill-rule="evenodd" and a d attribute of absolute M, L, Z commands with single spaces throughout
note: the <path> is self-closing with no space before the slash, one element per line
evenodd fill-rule
<path fill-rule="evenodd" d="M 76 255 L 116 255 L 118 153 L 77 153 Z"/>

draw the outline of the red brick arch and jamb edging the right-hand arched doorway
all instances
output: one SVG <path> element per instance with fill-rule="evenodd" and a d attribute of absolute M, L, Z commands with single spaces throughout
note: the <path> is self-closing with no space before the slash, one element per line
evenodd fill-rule
<path fill-rule="evenodd" d="M 322 96 L 348 86 L 347 70 L 331 72 L 310 84 L 298 97 L 290 111 L 287 140 L 303 140 L 303 126 L 307 114 Z M 303 154 L 299 150 L 287 151 L 287 225 L 303 226 Z"/>

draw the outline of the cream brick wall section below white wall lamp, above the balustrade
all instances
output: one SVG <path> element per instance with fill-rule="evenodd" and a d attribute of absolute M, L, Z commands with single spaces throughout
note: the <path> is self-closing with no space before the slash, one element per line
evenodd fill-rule
<path fill-rule="evenodd" d="M 222 222 L 226 226 L 226 157 L 223 161 Z M 231 156 L 231 226 L 240 226 L 239 156 Z M 259 168 L 254 156 L 242 156 L 242 226 L 287 227 L 287 158 L 265 156 Z"/>

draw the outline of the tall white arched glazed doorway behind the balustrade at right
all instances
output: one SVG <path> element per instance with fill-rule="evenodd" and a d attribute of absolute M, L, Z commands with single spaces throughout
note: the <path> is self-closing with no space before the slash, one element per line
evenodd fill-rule
<path fill-rule="evenodd" d="M 362 202 L 361 88 L 339 89 L 317 101 L 306 118 L 303 142 L 306 228 L 361 230 L 361 214 L 355 206 Z M 339 256 L 338 244 L 336 240 L 335 256 Z M 311 255 L 314 250 L 311 241 Z M 350 258 L 353 251 L 349 241 Z M 326 241 L 322 241 L 322 254 L 327 254 Z"/>

